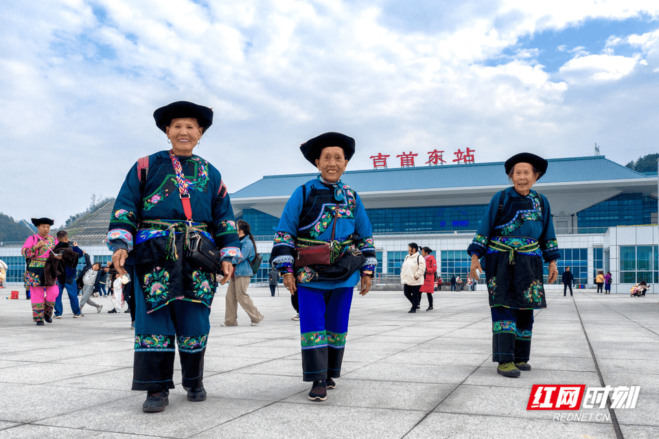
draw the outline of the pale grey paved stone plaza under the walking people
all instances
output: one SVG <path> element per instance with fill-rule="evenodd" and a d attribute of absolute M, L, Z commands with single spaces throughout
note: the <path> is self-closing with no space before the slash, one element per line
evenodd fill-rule
<path fill-rule="evenodd" d="M 327 401 L 308 401 L 299 324 L 288 292 L 250 288 L 265 320 L 220 327 L 225 287 L 211 311 L 208 399 L 192 403 L 174 374 L 165 412 L 146 414 L 132 392 L 128 314 L 85 307 L 32 322 L 0 290 L 0 438 L 659 438 L 659 304 L 656 295 L 548 290 L 535 313 L 531 365 L 497 375 L 487 294 L 438 292 L 435 310 L 408 314 L 402 292 L 355 293 L 343 374 Z M 16 289 L 16 288 L 14 288 Z M 178 363 L 178 359 L 176 360 Z M 640 385 L 636 408 L 527 411 L 533 384 Z M 597 407 L 597 406 L 596 406 Z M 578 414 L 580 420 L 554 420 Z M 592 416 L 590 416 L 592 414 Z"/>

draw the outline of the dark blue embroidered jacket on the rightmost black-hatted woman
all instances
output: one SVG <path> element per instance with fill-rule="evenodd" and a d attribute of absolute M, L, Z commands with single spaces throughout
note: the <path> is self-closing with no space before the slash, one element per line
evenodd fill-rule
<path fill-rule="evenodd" d="M 497 215 L 501 195 L 501 192 L 497 192 L 487 206 L 467 253 L 470 256 L 478 254 L 480 259 L 485 256 L 487 245 L 493 237 L 520 237 L 537 241 L 545 262 L 559 259 L 558 242 L 546 197 L 533 190 L 524 197 L 513 187 L 503 192 L 504 209 Z"/>

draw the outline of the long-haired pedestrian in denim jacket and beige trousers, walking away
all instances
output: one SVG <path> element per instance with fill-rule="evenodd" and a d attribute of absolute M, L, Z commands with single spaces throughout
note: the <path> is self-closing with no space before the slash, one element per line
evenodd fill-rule
<path fill-rule="evenodd" d="M 238 318 L 238 304 L 240 303 L 240 307 L 245 310 L 249 320 L 251 320 L 251 326 L 255 327 L 263 320 L 263 314 L 259 313 L 252 298 L 247 294 L 247 287 L 249 280 L 254 275 L 251 262 L 257 256 L 256 241 L 252 235 L 251 227 L 242 219 L 238 219 L 238 237 L 240 237 L 242 256 L 234 259 L 238 265 L 235 266 L 235 271 L 227 288 L 224 323 L 221 325 L 223 327 L 238 326 L 236 319 Z"/>

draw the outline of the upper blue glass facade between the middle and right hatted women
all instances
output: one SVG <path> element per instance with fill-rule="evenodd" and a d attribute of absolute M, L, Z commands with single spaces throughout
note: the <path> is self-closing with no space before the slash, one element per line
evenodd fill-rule
<path fill-rule="evenodd" d="M 366 209 L 373 233 L 476 230 L 487 204 Z"/>

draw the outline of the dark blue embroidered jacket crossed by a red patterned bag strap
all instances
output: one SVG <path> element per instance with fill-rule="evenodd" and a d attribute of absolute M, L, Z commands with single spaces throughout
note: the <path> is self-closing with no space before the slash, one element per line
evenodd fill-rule
<path fill-rule="evenodd" d="M 207 225 L 205 234 L 220 248 L 222 261 L 240 255 L 240 241 L 227 187 L 220 171 L 203 158 L 178 157 L 188 182 L 193 224 Z M 167 151 L 151 154 L 143 193 L 140 193 L 139 162 L 132 166 L 110 219 L 108 248 L 132 250 L 153 237 L 167 236 L 167 224 L 185 222 L 174 167 Z M 139 226 L 142 222 L 142 226 Z M 159 225 L 160 224 L 160 225 Z M 138 229 L 139 228 L 139 229 Z"/>

